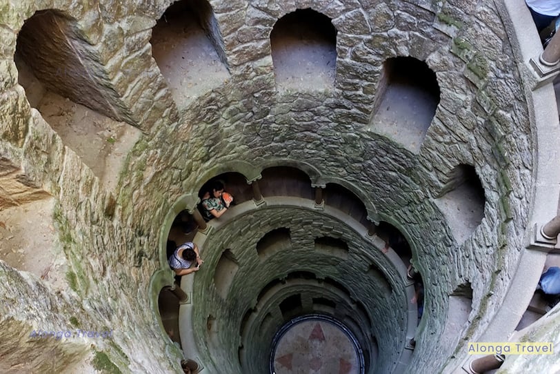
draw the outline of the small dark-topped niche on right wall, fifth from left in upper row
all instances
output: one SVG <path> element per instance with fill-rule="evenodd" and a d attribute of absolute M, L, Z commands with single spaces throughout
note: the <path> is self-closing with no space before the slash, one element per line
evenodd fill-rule
<path fill-rule="evenodd" d="M 484 217 L 486 197 L 474 166 L 460 164 L 448 175 L 436 204 L 459 244 L 465 242 Z"/>

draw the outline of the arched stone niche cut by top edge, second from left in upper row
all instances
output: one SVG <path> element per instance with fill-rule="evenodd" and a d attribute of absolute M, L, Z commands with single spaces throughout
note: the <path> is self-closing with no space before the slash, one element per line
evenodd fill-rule
<path fill-rule="evenodd" d="M 150 43 L 179 110 L 230 77 L 223 39 L 206 0 L 173 3 L 152 29 Z"/>

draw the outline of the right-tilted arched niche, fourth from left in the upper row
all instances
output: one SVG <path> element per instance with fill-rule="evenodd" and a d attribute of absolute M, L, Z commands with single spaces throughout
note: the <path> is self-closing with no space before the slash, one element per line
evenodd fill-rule
<path fill-rule="evenodd" d="M 439 104 L 439 84 L 424 61 L 394 57 L 383 63 L 370 128 L 419 152 Z"/>

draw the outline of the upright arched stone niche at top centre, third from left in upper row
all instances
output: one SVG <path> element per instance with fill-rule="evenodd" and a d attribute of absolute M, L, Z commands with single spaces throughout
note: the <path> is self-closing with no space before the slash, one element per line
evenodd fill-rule
<path fill-rule="evenodd" d="M 310 8 L 277 21 L 270 33 L 274 77 L 279 91 L 332 90 L 337 62 L 337 29 Z"/>

